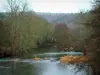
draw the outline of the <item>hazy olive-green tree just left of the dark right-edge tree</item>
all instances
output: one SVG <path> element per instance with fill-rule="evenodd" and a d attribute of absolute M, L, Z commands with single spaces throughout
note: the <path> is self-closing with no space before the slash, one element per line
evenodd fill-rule
<path fill-rule="evenodd" d="M 80 12 L 76 17 L 76 28 L 72 30 L 73 35 L 77 38 L 75 42 L 76 49 L 84 50 L 85 39 L 91 35 L 92 28 L 85 25 L 90 19 L 90 16 L 91 14 L 89 12 Z"/>

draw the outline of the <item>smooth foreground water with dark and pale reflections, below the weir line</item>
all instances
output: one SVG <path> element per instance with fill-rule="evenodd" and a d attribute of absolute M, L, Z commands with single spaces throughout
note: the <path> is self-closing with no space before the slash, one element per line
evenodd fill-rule
<path fill-rule="evenodd" d="M 81 64 L 80 64 L 81 65 Z M 61 64 L 59 61 L 42 62 L 20 62 L 9 63 L 2 62 L 0 66 L 0 75 L 87 75 L 86 69 L 77 72 L 77 65 Z"/>

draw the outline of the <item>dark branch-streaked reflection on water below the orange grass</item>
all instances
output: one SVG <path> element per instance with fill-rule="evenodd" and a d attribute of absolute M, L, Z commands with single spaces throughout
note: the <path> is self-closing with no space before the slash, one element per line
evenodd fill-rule
<path fill-rule="evenodd" d="M 90 67 L 85 64 L 58 64 L 58 68 L 68 75 L 92 75 Z"/>

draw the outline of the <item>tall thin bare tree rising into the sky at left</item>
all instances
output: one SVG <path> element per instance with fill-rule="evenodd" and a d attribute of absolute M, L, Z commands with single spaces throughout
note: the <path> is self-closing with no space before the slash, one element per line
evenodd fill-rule
<path fill-rule="evenodd" d="M 8 23 L 10 23 L 10 40 L 12 54 L 16 54 L 16 49 L 20 42 L 20 16 L 27 10 L 27 3 L 19 3 L 19 0 L 6 0 L 9 9 Z"/>

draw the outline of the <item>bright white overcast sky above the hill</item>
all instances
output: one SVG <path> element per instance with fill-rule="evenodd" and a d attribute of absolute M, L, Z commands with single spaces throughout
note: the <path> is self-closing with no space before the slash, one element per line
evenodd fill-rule
<path fill-rule="evenodd" d="M 24 1 L 24 0 L 23 0 Z M 26 0 L 25 0 L 26 1 Z M 27 0 L 36 12 L 76 13 L 91 9 L 91 0 Z M 6 0 L 0 0 L 0 11 L 5 11 Z"/>

